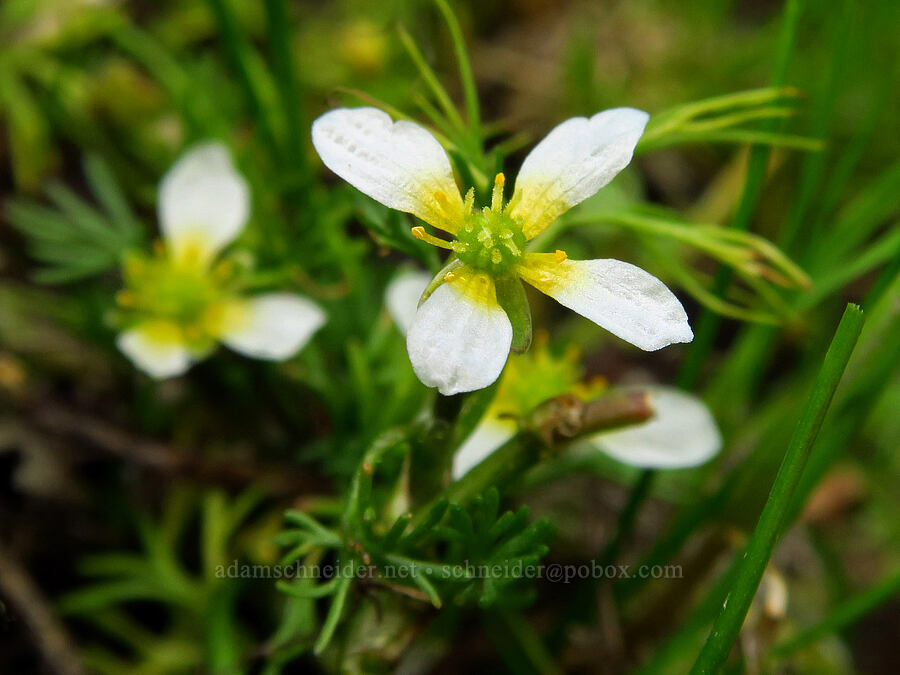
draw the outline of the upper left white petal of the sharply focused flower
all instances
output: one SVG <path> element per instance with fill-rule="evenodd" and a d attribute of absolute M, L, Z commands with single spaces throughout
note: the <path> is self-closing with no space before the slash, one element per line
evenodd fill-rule
<path fill-rule="evenodd" d="M 444 148 L 414 122 L 377 108 L 337 108 L 312 126 L 329 169 L 385 206 L 455 233 L 463 204 Z"/>

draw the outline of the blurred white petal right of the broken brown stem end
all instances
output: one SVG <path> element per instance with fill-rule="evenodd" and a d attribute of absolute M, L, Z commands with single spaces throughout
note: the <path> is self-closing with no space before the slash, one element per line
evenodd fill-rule
<path fill-rule="evenodd" d="M 703 401 L 669 387 L 641 388 L 654 416 L 642 424 L 607 431 L 591 441 L 611 457 L 652 469 L 678 469 L 706 462 L 722 449 L 722 435 Z"/>

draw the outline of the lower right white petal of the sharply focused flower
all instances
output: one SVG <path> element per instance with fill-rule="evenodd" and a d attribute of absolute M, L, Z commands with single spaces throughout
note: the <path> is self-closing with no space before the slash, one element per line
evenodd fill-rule
<path fill-rule="evenodd" d="M 655 351 L 694 333 L 678 298 L 640 267 L 621 260 L 564 260 L 526 254 L 521 277 L 627 342 Z"/>

